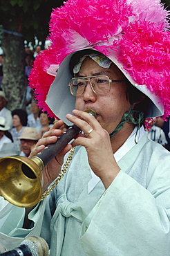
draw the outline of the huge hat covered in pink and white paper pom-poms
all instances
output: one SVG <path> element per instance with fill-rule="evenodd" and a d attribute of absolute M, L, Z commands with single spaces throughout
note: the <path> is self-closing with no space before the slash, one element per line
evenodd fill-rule
<path fill-rule="evenodd" d="M 169 11 L 160 0 L 64 2 L 52 12 L 51 44 L 37 56 L 30 73 L 37 104 L 69 125 L 66 113 L 75 108 L 68 88 L 70 60 L 75 52 L 93 49 L 112 60 L 151 99 L 147 118 L 165 120 L 170 115 L 168 19 Z"/>

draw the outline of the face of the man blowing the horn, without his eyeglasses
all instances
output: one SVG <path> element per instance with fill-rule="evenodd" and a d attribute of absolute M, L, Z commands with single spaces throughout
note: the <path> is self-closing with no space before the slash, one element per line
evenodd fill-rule
<path fill-rule="evenodd" d="M 82 63 L 77 76 L 86 77 L 93 75 L 107 75 L 111 80 L 124 79 L 124 75 L 114 64 L 111 64 L 110 68 L 102 68 L 91 60 L 90 57 L 87 57 Z M 115 127 L 122 120 L 124 113 L 129 111 L 131 106 L 126 98 L 125 82 L 111 83 L 111 91 L 103 95 L 95 94 L 88 82 L 83 95 L 77 96 L 75 105 L 76 109 L 82 111 L 93 109 L 97 113 L 98 122 L 109 134 L 114 131 Z"/>

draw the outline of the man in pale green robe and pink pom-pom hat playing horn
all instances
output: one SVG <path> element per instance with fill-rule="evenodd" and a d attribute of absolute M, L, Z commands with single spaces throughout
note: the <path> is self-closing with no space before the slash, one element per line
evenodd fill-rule
<path fill-rule="evenodd" d="M 53 256 L 169 255 L 170 154 L 144 130 L 146 118 L 170 115 L 168 16 L 159 0 L 68 0 L 53 10 L 52 44 L 29 80 L 59 121 L 30 157 L 64 123 L 83 132 L 44 167 L 41 202 L 3 224 L 4 247 L 34 234 Z"/>

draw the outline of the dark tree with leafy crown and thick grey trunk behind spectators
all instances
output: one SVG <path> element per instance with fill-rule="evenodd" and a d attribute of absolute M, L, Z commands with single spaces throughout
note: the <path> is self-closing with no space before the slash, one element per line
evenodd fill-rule
<path fill-rule="evenodd" d="M 24 40 L 35 45 L 48 36 L 50 14 L 63 0 L 0 0 L 0 39 L 3 49 L 3 91 L 10 110 L 25 107 Z"/>

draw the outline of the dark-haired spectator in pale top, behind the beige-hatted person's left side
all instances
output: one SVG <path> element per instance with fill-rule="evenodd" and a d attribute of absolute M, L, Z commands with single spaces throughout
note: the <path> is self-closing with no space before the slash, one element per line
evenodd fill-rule
<path fill-rule="evenodd" d="M 26 128 L 28 114 L 23 109 L 15 109 L 12 111 L 12 129 L 10 133 L 15 143 L 20 145 L 19 136 L 23 132 L 23 129 Z"/>

